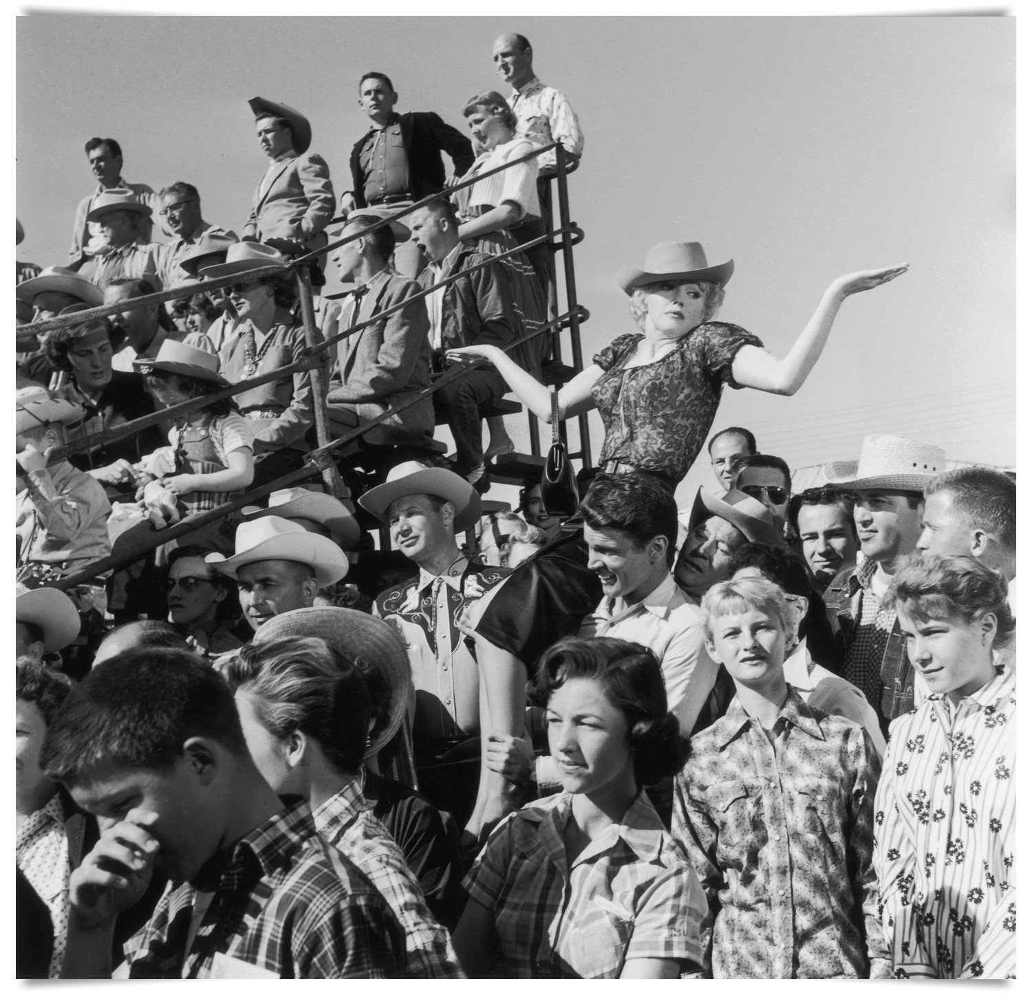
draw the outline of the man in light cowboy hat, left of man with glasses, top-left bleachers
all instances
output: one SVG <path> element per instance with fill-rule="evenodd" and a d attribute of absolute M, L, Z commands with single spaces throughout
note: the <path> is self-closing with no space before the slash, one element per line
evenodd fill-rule
<path fill-rule="evenodd" d="M 151 217 L 151 207 L 131 190 L 108 190 L 93 203 L 86 216 L 95 221 L 101 245 L 96 253 L 83 256 L 71 268 L 103 289 L 119 277 L 149 277 L 161 289 L 158 280 L 158 246 L 141 242 L 137 226 L 140 218 Z"/>

